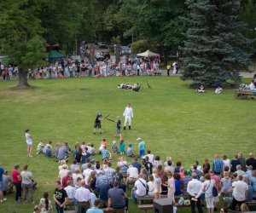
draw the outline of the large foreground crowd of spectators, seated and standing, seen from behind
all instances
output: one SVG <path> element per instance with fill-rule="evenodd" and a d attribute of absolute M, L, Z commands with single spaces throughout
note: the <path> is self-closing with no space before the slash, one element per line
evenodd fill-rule
<path fill-rule="evenodd" d="M 114 141 L 111 146 L 103 140 L 98 152 L 93 145 L 84 142 L 76 143 L 73 152 L 67 143 L 56 146 L 55 152 L 43 149 L 42 153 L 46 156 L 51 153 L 51 157 L 55 153 L 60 163 L 56 168 L 59 180 L 55 182 L 53 196 L 57 212 L 63 212 L 67 205 L 75 206 L 79 213 L 103 212 L 99 207 L 128 211 L 126 192 L 129 184 L 133 186 L 131 199 L 134 203 L 137 203 L 137 199 L 151 196 L 152 199 L 167 197 L 176 205 L 177 196 L 182 196 L 189 199 L 187 204 L 190 204 L 192 212 L 195 206 L 202 212 L 202 205 L 205 203 L 209 213 L 217 210 L 219 195 L 231 210 L 236 210 L 237 205 L 239 209 L 246 208 L 245 203 L 253 200 L 253 193 L 256 192 L 256 158 L 253 153 L 249 153 L 247 159 L 237 153 L 231 160 L 226 155 L 219 158 L 216 154 L 212 163 L 208 159 L 203 164 L 195 160 L 190 168 L 185 169 L 181 161 L 174 162 L 170 156 L 163 162 L 160 156 L 154 156 L 150 150 L 146 152 L 145 141 L 141 138 L 137 138 L 137 141 L 138 155 L 135 155 L 137 152 L 133 151 L 131 144 L 125 148 L 124 140 L 119 141 L 119 145 Z M 47 147 L 46 150 L 49 148 L 47 145 L 44 147 Z M 74 159 L 72 164 L 67 165 L 68 155 L 72 155 L 71 153 Z M 102 159 L 99 160 L 96 154 L 100 154 Z M 113 162 L 112 157 L 117 154 L 120 154 L 118 162 Z M 15 170 L 12 171 L 16 189 L 15 201 L 20 202 L 22 188 L 22 201 L 26 203 L 29 193 L 34 204 L 32 172 L 24 166 L 20 173 L 19 168 L 19 165 L 15 165 Z M 218 194 L 213 196 L 214 187 Z M 178 204 L 184 204 L 184 201 L 179 200 Z M 52 210 L 49 194 L 45 192 L 39 205 L 35 207 L 35 212 Z M 226 209 L 223 207 L 222 210 Z"/>

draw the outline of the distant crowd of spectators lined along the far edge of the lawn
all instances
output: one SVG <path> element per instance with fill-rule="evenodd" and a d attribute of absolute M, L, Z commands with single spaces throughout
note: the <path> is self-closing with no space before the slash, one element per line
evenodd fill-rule
<path fill-rule="evenodd" d="M 1 65 L 3 80 L 16 79 L 18 66 Z M 27 77 L 31 79 L 46 78 L 82 78 L 82 77 L 108 77 L 108 76 L 133 76 L 133 75 L 160 75 L 159 59 L 143 60 L 127 58 L 118 65 L 113 65 L 112 60 L 91 63 L 88 58 L 84 60 L 55 60 L 49 66 L 28 69 Z"/>

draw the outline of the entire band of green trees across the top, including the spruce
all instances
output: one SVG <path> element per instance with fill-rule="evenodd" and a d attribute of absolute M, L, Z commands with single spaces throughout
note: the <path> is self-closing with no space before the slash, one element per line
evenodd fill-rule
<path fill-rule="evenodd" d="M 194 13 L 189 17 L 188 8 Z M 248 29 L 237 20 L 240 11 Z M 184 0 L 5 0 L 0 2 L 0 55 L 9 55 L 20 67 L 21 86 L 27 68 L 42 65 L 46 47 L 55 44 L 73 55 L 82 41 L 135 42 L 134 53 L 155 49 L 165 62 L 184 45 L 185 58 L 192 57 L 184 60 L 183 79 L 224 83 L 239 80 L 238 72 L 247 67 L 243 50 L 250 45 L 245 37 L 255 37 L 255 11 L 255 0 L 241 5 L 239 0 L 187 5 Z"/>

